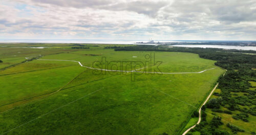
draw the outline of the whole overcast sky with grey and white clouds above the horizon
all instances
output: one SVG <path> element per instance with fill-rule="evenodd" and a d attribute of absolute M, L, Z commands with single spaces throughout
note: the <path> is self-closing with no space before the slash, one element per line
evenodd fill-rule
<path fill-rule="evenodd" d="M 0 38 L 256 40 L 256 0 L 1 0 Z"/>

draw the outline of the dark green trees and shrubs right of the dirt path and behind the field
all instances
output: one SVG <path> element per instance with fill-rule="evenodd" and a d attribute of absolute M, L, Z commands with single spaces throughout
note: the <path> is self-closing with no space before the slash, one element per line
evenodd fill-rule
<path fill-rule="evenodd" d="M 202 122 L 188 134 L 253 134 L 256 131 L 256 56 L 243 54 L 254 51 L 143 46 L 116 50 L 143 49 L 197 53 L 201 58 L 217 60 L 216 65 L 227 69 L 225 76 L 218 80 L 221 91 L 215 92 L 207 102 Z"/>

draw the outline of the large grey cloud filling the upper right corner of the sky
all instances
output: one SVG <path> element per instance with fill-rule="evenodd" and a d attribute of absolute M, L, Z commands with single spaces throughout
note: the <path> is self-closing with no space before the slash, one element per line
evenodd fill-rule
<path fill-rule="evenodd" d="M 205 17 L 210 19 L 216 19 L 219 21 L 228 21 L 228 23 L 238 23 L 241 21 L 256 20 L 256 2 L 254 0 L 245 1 L 175 1 L 170 7 L 165 8 L 165 14 L 168 16 L 168 12 L 178 13 L 176 19 L 181 19 L 182 16 L 187 18 L 194 18 L 190 16 L 191 13 L 204 13 Z M 200 19 L 196 17 L 195 19 Z M 227 22 L 224 22 L 227 23 Z"/>

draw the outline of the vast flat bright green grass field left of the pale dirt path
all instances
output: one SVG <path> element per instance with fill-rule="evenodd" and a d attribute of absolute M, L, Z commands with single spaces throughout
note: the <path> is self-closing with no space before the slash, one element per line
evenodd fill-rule
<path fill-rule="evenodd" d="M 0 134 L 181 134 L 191 113 L 224 73 L 215 61 L 197 54 L 69 45 L 0 44 L 7 46 L 0 48 Z M 21 63 L 37 55 L 47 60 Z M 101 72 L 57 60 L 118 71 L 140 69 L 142 63 L 146 68 L 141 72 L 214 69 L 198 74 Z M 158 67 L 157 61 L 162 62 Z"/>

